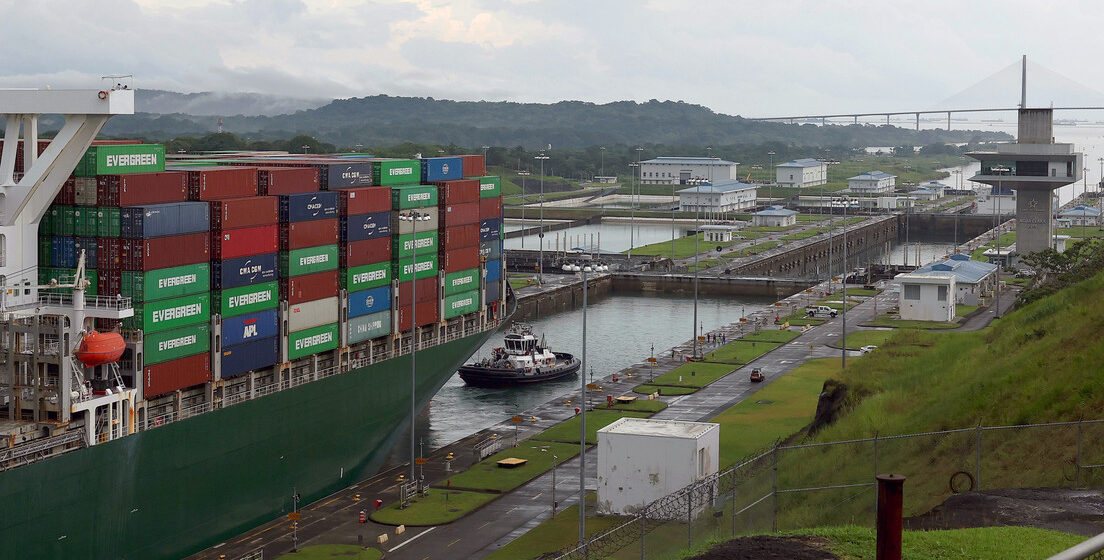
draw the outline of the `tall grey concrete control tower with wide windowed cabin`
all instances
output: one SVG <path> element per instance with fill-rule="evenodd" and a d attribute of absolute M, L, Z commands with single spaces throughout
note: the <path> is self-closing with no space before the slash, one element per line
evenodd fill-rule
<path fill-rule="evenodd" d="M 1029 109 L 1021 104 L 1016 144 L 967 154 L 981 162 L 972 181 L 1017 191 L 1016 251 L 1020 255 L 1051 246 L 1053 192 L 1081 180 L 1084 155 L 1074 151 L 1072 144 L 1054 142 L 1053 126 L 1053 109 Z"/>

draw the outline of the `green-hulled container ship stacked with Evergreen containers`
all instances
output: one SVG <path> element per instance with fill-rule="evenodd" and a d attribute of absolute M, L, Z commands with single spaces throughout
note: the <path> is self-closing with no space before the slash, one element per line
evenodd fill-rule
<path fill-rule="evenodd" d="M 412 352 L 421 409 L 509 313 L 482 156 L 88 139 L 66 159 L 11 118 L 0 183 L 52 159 L 59 184 L 4 255 L 0 541 L 20 558 L 180 558 L 373 474 L 411 424 Z"/>

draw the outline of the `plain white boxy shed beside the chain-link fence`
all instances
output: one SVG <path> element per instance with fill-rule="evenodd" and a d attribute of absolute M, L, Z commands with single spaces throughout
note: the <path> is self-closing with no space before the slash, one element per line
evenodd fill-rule
<path fill-rule="evenodd" d="M 636 513 L 716 474 L 720 442 L 707 422 L 623 418 L 598 430 L 598 511 Z"/>

